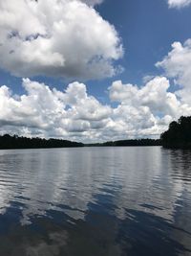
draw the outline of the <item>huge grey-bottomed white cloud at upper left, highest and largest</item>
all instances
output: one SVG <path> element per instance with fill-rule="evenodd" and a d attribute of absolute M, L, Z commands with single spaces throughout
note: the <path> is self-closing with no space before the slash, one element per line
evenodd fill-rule
<path fill-rule="evenodd" d="M 1 1 L 0 67 L 18 77 L 117 74 L 114 61 L 123 55 L 117 31 L 91 7 L 101 1 L 82 2 Z"/>

